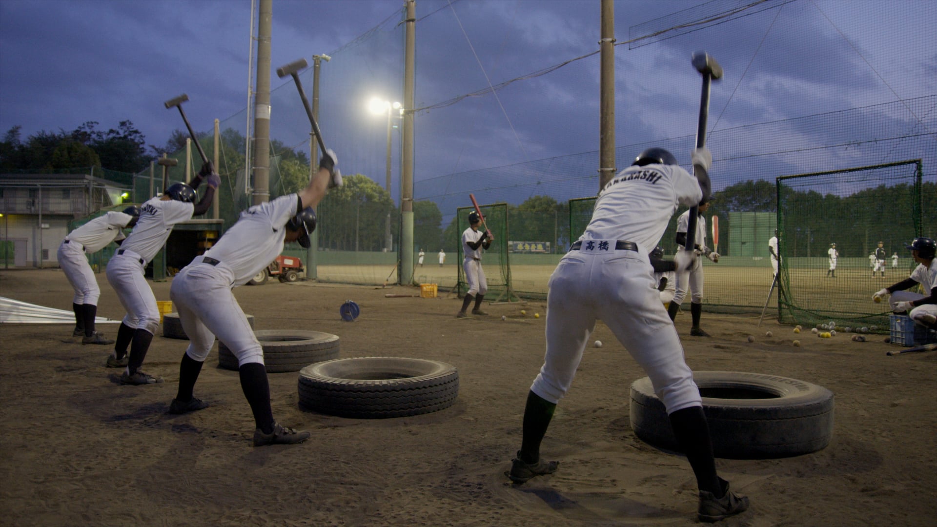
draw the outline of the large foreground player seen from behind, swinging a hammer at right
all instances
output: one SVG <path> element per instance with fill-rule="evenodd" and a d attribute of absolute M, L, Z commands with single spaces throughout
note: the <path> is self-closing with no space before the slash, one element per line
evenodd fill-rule
<path fill-rule="evenodd" d="M 541 459 L 541 442 L 601 319 L 647 372 L 666 407 L 696 475 L 699 519 L 715 521 L 748 508 L 748 498 L 737 496 L 716 474 L 699 388 L 661 304 L 647 254 L 660 241 L 677 205 L 698 204 L 709 195 L 706 169 L 711 159 L 706 149 L 693 152 L 697 181 L 669 152 L 650 148 L 602 188 L 586 232 L 550 277 L 546 356 L 530 386 L 521 448 L 507 473 L 513 482 L 557 470 L 557 461 Z M 692 250 L 677 251 L 675 263 L 687 269 L 695 258 Z"/>

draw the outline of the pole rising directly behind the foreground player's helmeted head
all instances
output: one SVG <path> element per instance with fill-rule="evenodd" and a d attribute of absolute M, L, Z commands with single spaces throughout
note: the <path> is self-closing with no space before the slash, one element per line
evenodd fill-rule
<path fill-rule="evenodd" d="M 599 190 L 612 180 L 615 168 L 615 2 L 602 0 L 601 74 L 599 99 Z"/>

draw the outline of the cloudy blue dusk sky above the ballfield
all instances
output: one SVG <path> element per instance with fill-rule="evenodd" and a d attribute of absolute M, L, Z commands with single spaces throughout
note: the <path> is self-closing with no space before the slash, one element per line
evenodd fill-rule
<path fill-rule="evenodd" d="M 744 144 L 751 134 L 732 130 L 794 119 L 776 126 L 783 130 L 778 141 L 802 148 L 818 134 L 838 130 L 810 120 L 807 129 L 797 129 L 804 124 L 797 118 L 877 104 L 898 103 L 884 111 L 892 113 L 891 122 L 880 128 L 937 130 L 937 111 L 928 99 L 937 94 L 937 9 L 929 0 L 618 1 L 617 41 L 747 4 L 756 5 L 642 41 L 647 45 L 616 47 L 618 145 L 689 138 L 671 142 L 687 150 L 678 158 L 689 159 L 699 104 L 690 56 L 697 50 L 712 53 L 726 71 L 713 87 L 710 107 L 708 128 L 714 149 L 721 149 L 716 158 L 746 157 L 739 150 L 757 148 Z M 345 172 L 365 173 L 381 184 L 386 120 L 365 108 L 372 96 L 403 97 L 402 5 L 273 2 L 272 70 L 300 57 L 311 63 L 314 53 L 333 55 L 322 67 L 323 136 Z M 209 130 L 219 118 L 223 128 L 244 135 L 250 11 L 248 0 L 0 0 L 0 131 L 21 126 L 25 139 L 85 121 L 107 129 L 130 120 L 147 143 L 159 146 L 183 128 L 163 101 L 185 92 L 195 128 Z M 598 0 L 421 0 L 416 106 L 436 106 L 597 51 L 599 15 Z M 307 91 L 310 71 L 303 76 Z M 271 85 L 272 136 L 307 148 L 308 124 L 295 88 L 273 71 Z M 716 143 L 721 130 L 734 139 Z M 416 134 L 418 184 L 594 152 L 599 55 L 512 83 L 497 97 L 489 92 L 424 110 L 417 114 Z M 395 136 L 394 187 L 398 142 Z M 590 166 L 579 170 L 594 174 L 598 167 L 587 158 Z M 627 164 L 619 155 L 618 168 Z M 523 179 L 524 170 L 513 177 Z"/>

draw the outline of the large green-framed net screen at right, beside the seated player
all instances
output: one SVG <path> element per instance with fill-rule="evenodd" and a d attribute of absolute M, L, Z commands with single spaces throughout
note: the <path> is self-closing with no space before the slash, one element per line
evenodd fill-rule
<path fill-rule="evenodd" d="M 908 278 L 920 159 L 777 178 L 781 322 L 888 329 L 871 294 Z M 932 210 L 932 209 L 931 209 Z"/>

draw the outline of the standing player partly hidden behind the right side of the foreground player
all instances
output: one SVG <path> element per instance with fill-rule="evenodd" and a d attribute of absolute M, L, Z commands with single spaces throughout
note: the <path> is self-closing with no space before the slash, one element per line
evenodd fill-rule
<path fill-rule="evenodd" d="M 693 241 L 694 247 L 690 250 L 695 250 L 697 255 L 705 254 L 706 258 L 715 264 L 719 262 L 719 253 L 706 247 L 706 218 L 703 216 L 703 213 L 706 212 L 708 208 L 709 197 L 706 196 L 699 204 L 699 218 L 696 220 L 696 238 Z M 688 250 L 685 246 L 687 245 L 687 226 L 689 223 L 690 210 L 687 209 L 677 218 L 677 251 Z M 690 314 L 692 316 L 692 326 L 690 328 L 690 335 L 693 337 L 709 337 L 709 334 L 700 327 L 700 317 L 703 314 L 702 259 L 696 258 L 693 261 L 689 273 L 677 273 L 677 293 L 674 294 L 674 299 L 670 303 L 670 307 L 667 308 L 667 314 L 670 315 L 670 320 L 677 319 L 677 311 L 679 311 L 680 305 L 683 304 L 683 300 L 686 298 L 687 288 L 690 289 L 691 293 Z"/>

